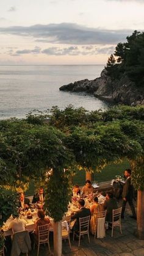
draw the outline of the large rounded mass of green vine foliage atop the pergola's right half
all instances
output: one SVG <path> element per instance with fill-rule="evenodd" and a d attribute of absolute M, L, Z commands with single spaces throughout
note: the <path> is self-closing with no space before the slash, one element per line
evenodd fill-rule
<path fill-rule="evenodd" d="M 130 121 L 125 125 L 134 129 Z M 138 140 L 139 127 L 136 124 L 135 127 L 134 136 L 132 133 L 129 136 L 123 122 L 107 123 L 96 128 L 77 127 L 68 137 L 68 147 L 73 149 L 80 166 L 89 170 L 103 169 L 110 162 L 118 162 L 124 156 L 134 158 L 143 153 Z"/>

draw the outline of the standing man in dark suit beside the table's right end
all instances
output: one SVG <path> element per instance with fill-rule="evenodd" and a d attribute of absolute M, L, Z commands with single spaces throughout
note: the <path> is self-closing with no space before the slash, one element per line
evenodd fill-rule
<path fill-rule="evenodd" d="M 137 219 L 134 203 L 132 202 L 132 199 L 134 198 L 134 188 L 131 185 L 131 170 L 126 169 L 124 171 L 124 176 L 126 177 L 125 184 L 123 186 L 123 207 L 121 211 L 121 218 L 124 219 L 124 211 L 126 208 L 126 203 L 129 203 L 129 206 L 131 207 L 132 216 L 130 216 L 132 219 Z"/>

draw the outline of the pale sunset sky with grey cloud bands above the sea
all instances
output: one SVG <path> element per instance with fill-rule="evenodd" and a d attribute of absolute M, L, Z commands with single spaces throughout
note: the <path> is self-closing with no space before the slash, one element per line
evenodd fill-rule
<path fill-rule="evenodd" d="M 143 13 L 144 0 L 1 1 L 0 65 L 105 65 Z"/>

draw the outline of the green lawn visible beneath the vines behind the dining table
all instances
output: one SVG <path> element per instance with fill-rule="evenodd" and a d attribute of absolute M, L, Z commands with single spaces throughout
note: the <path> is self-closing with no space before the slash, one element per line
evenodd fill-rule
<path fill-rule="evenodd" d="M 123 161 L 121 164 L 110 164 L 109 166 L 105 167 L 101 172 L 94 174 L 93 180 L 98 182 L 113 180 L 115 175 L 122 175 L 123 171 L 129 168 L 128 161 Z M 84 185 L 85 183 L 85 171 L 80 170 L 76 173 L 73 177 L 73 184 L 78 184 L 79 186 Z M 34 195 L 35 186 L 32 182 L 29 186 L 29 189 L 26 191 L 26 196 Z"/>

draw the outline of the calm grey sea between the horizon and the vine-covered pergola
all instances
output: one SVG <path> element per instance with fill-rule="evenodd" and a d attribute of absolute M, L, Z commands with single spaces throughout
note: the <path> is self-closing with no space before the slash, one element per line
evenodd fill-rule
<path fill-rule="evenodd" d="M 81 79 L 94 79 L 103 65 L 14 65 L 0 66 L 0 119 L 25 117 L 32 109 L 52 106 L 107 108 L 107 103 L 85 93 L 59 91 L 59 87 Z"/>

